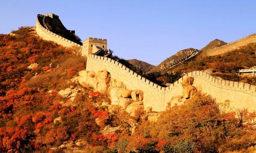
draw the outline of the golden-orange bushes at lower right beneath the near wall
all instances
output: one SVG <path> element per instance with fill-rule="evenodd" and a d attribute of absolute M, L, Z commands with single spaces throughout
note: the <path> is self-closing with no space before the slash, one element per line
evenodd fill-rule
<path fill-rule="evenodd" d="M 115 145 L 139 153 L 243 152 L 255 145 L 255 117 L 247 110 L 224 113 L 210 96 L 197 93 L 183 105 L 169 106 L 157 122 L 140 122 L 135 134 L 124 134 Z"/>

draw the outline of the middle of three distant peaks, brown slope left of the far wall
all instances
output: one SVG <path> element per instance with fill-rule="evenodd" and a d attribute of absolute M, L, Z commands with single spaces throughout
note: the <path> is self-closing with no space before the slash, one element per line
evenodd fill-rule
<path fill-rule="evenodd" d="M 152 73 L 152 72 L 158 71 L 158 70 L 160 70 L 162 68 L 166 68 L 170 63 L 175 62 L 175 61 L 177 61 L 179 59 L 182 59 L 183 57 L 191 54 L 193 50 L 195 50 L 195 49 L 188 48 L 188 49 L 184 49 L 182 51 L 178 51 L 173 56 L 165 59 L 158 66 L 156 66 L 155 68 L 151 69 L 147 73 Z"/>

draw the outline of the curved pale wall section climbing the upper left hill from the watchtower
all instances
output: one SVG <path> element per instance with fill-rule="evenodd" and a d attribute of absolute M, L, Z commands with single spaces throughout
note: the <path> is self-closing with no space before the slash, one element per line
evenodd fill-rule
<path fill-rule="evenodd" d="M 43 15 L 40 15 L 38 14 L 37 15 L 37 26 L 36 26 L 36 31 L 37 31 L 37 34 L 44 40 L 47 40 L 47 41 L 53 41 L 59 45 L 62 45 L 64 47 L 73 47 L 73 46 L 76 46 L 76 47 L 79 47 L 82 49 L 82 45 L 78 44 L 78 43 L 75 43 L 75 42 L 72 42 L 58 34 L 55 34 L 53 32 L 51 32 L 50 30 L 46 29 L 44 26 L 42 26 L 40 24 L 40 22 L 38 21 L 38 16 L 39 17 L 43 17 Z"/>

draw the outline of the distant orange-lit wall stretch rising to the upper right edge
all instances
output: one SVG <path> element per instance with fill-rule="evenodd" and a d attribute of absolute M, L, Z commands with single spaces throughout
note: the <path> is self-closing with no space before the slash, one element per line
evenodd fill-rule
<path fill-rule="evenodd" d="M 223 46 L 206 50 L 206 51 L 201 51 L 200 56 L 206 57 L 206 56 L 214 56 L 214 55 L 219 55 L 219 54 L 224 54 L 229 51 L 233 51 L 235 49 L 238 49 L 241 46 L 244 46 L 248 43 L 256 42 L 256 34 L 250 34 L 244 38 L 241 38 L 237 41 L 234 42 L 229 42 Z"/>

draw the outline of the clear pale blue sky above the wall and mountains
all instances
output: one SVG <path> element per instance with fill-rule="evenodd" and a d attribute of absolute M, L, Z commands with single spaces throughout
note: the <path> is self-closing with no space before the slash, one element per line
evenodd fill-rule
<path fill-rule="evenodd" d="M 0 13 L 0 34 L 55 13 L 82 40 L 107 39 L 115 55 L 153 65 L 216 38 L 256 33 L 256 0 L 0 0 Z"/>

